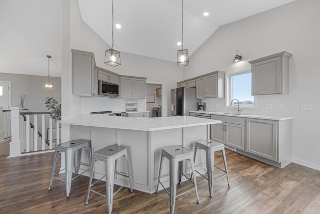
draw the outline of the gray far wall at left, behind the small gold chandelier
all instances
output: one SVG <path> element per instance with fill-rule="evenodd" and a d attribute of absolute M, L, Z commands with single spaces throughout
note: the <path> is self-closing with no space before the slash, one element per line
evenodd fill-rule
<path fill-rule="evenodd" d="M 54 90 L 42 88 L 45 79 L 45 76 L 0 73 L 0 81 L 11 81 L 11 107 L 20 104 L 19 94 L 25 94 L 24 107 L 29 107 L 31 112 L 47 111 L 44 97 L 54 97 L 60 103 L 61 78 L 50 77 L 56 85 Z"/>

